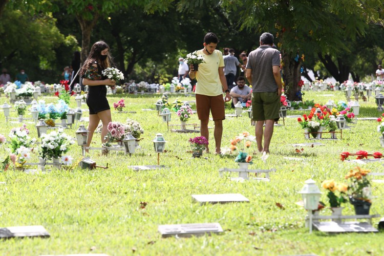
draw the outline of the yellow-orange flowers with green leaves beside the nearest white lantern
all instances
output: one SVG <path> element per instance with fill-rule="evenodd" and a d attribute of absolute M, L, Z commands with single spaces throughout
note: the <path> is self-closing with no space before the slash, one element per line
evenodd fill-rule
<path fill-rule="evenodd" d="M 347 184 L 336 183 L 334 180 L 325 180 L 322 183 L 322 187 L 328 190 L 327 197 L 331 207 L 340 207 L 342 203 L 347 202 Z"/>

